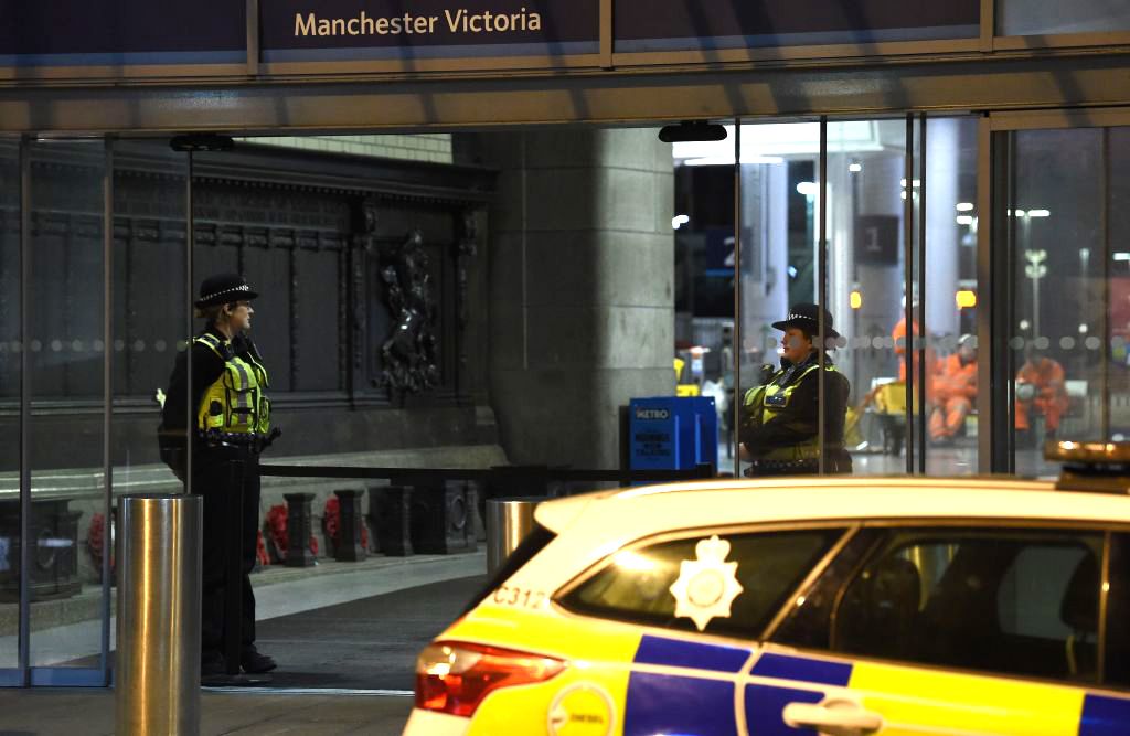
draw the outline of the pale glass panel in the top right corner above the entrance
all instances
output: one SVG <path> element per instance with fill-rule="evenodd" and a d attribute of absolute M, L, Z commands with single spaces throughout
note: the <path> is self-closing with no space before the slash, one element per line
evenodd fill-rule
<path fill-rule="evenodd" d="M 997 0 L 997 34 L 1035 36 L 1130 31 L 1124 0 Z"/>

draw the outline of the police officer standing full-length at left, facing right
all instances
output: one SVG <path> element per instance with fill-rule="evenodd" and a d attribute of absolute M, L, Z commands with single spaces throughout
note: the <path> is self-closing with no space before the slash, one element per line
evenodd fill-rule
<path fill-rule="evenodd" d="M 251 306 L 258 294 L 236 274 L 205 279 L 197 317 L 207 327 L 192 340 L 192 492 L 203 496 L 203 575 L 200 674 L 203 681 L 224 676 L 225 632 L 240 629 L 240 663 L 245 673 L 266 673 L 277 666 L 255 649 L 255 597 L 249 573 L 254 566 L 259 530 L 259 453 L 269 443 L 270 402 L 266 396 L 267 369 L 254 343 L 246 337 Z M 162 433 L 169 436 L 188 425 L 184 406 L 186 361 L 177 356 L 169 379 Z M 276 431 L 277 432 L 277 431 Z M 175 470 L 175 468 L 174 468 Z M 183 473 L 181 474 L 183 477 Z M 231 499 L 242 488 L 237 548 L 227 544 Z M 237 555 L 242 609 L 240 621 L 225 616 L 225 577 L 228 555 Z M 235 667 L 232 667 L 235 669 Z"/>

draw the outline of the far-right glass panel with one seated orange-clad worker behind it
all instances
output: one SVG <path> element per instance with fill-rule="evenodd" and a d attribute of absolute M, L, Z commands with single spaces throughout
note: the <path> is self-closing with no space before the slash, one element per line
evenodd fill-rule
<path fill-rule="evenodd" d="M 1000 366 L 994 469 L 1050 475 L 1052 439 L 1130 438 L 1130 119 L 993 119 Z"/>

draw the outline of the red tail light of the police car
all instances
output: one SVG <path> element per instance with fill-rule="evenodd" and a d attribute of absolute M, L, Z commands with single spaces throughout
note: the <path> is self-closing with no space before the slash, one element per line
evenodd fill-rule
<path fill-rule="evenodd" d="M 436 642 L 416 658 L 416 707 L 470 718 L 483 699 L 502 687 L 547 681 L 565 663 L 463 642 Z"/>

